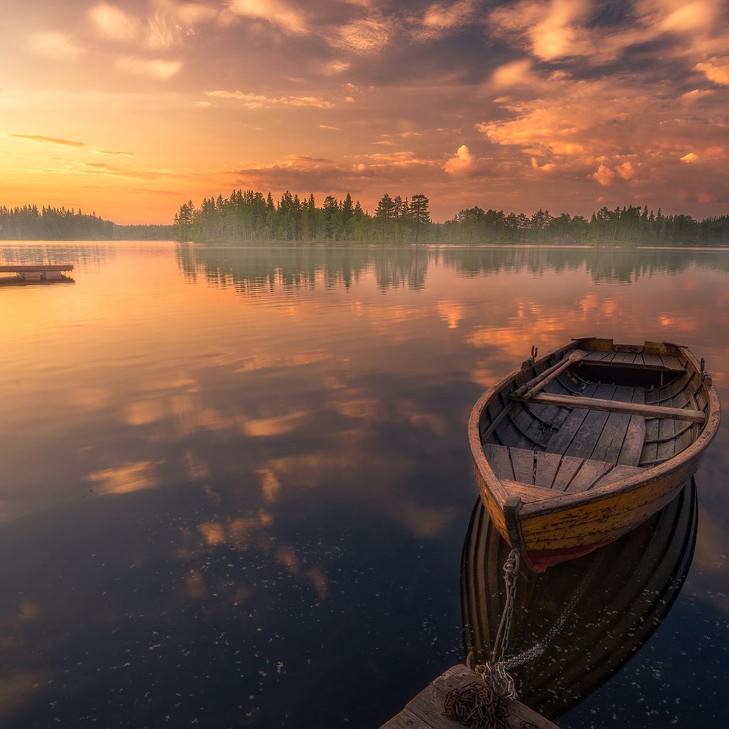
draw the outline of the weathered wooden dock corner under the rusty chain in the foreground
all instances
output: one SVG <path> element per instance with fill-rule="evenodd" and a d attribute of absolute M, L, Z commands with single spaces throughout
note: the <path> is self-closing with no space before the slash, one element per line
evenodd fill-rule
<path fill-rule="evenodd" d="M 454 688 L 461 688 L 480 677 L 463 663 L 452 666 L 426 686 L 410 701 L 402 712 L 383 724 L 380 729 L 459 729 L 456 720 L 443 714 L 445 696 Z M 512 701 L 507 706 L 509 722 L 513 729 L 523 726 L 534 726 L 534 729 L 559 729 L 556 724 L 529 709 L 519 701 Z"/>

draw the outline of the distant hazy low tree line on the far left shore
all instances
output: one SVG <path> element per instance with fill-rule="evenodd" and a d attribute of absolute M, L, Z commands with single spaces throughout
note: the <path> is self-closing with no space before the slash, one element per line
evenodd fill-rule
<path fill-rule="evenodd" d="M 0 206 L 0 239 L 6 241 L 169 241 L 174 235 L 171 225 L 117 225 L 74 208 Z"/>

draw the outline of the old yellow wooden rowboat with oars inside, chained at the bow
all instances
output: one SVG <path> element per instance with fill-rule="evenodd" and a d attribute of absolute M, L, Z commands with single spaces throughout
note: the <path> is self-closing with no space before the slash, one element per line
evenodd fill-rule
<path fill-rule="evenodd" d="M 671 501 L 719 429 L 712 379 L 683 346 L 585 338 L 488 389 L 469 419 L 494 526 L 541 572 Z"/>

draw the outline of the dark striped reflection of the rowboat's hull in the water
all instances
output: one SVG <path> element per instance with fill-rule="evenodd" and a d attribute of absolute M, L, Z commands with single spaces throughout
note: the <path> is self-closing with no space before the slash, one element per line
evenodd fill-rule
<path fill-rule="evenodd" d="M 697 512 L 692 479 L 671 504 L 611 545 L 544 573 L 521 566 L 509 656 L 538 643 L 544 649 L 510 670 L 521 701 L 558 717 L 636 654 L 682 588 Z M 478 502 L 461 558 L 464 646 L 477 663 L 490 658 L 499 627 L 509 552 Z"/>

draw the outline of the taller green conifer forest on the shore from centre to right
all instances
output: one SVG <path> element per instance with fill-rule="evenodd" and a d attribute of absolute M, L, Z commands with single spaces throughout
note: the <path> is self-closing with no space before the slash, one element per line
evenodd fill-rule
<path fill-rule="evenodd" d="M 729 244 L 729 216 L 702 221 L 690 215 L 663 215 L 647 206 L 602 207 L 590 219 L 547 210 L 533 215 L 464 208 L 451 220 L 432 222 L 425 195 L 385 193 L 374 214 L 347 193 L 327 195 L 321 206 L 313 193 L 299 198 L 288 190 L 279 200 L 269 192 L 235 190 L 229 198 L 204 198 L 200 207 L 184 203 L 174 217 L 179 241 L 361 241 L 391 243 L 646 243 Z"/>

